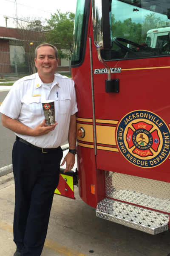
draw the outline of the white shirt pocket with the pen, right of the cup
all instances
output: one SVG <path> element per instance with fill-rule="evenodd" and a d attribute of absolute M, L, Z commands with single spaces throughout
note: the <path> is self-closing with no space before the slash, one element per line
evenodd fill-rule
<path fill-rule="evenodd" d="M 59 114 L 66 114 L 71 108 L 71 97 L 69 94 L 56 94 L 55 110 Z"/>

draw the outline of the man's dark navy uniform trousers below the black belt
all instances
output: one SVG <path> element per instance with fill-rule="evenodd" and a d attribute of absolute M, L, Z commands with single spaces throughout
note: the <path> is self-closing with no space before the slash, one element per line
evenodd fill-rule
<path fill-rule="evenodd" d="M 14 242 L 22 249 L 22 256 L 41 255 L 61 159 L 60 147 L 42 153 L 20 141 L 14 143 Z"/>

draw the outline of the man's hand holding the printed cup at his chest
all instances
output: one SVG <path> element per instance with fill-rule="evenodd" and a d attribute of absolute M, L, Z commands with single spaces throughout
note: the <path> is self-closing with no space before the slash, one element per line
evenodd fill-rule
<path fill-rule="evenodd" d="M 35 137 L 48 134 L 49 131 L 53 131 L 55 129 L 56 125 L 58 125 L 57 122 L 55 122 L 54 125 L 46 125 L 44 119 L 44 121 L 40 125 L 32 130 L 31 136 Z"/>

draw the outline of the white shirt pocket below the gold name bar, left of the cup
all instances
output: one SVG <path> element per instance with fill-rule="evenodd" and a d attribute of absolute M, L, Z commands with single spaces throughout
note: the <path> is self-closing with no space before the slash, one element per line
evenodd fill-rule
<path fill-rule="evenodd" d="M 41 97 L 31 97 L 27 99 L 26 105 L 28 106 L 28 111 L 35 116 L 43 115 L 43 108 L 41 103 Z"/>

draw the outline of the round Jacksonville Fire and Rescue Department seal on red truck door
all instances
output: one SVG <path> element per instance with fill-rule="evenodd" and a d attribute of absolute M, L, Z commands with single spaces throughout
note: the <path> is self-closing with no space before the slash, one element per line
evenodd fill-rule
<path fill-rule="evenodd" d="M 170 131 L 155 113 L 136 110 L 119 122 L 116 139 L 119 150 L 132 164 L 152 168 L 163 163 L 170 153 Z"/>

